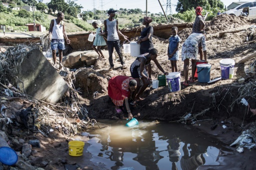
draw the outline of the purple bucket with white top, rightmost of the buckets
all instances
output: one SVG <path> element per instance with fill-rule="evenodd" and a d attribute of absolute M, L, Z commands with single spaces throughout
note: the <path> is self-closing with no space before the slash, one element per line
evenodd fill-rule
<path fill-rule="evenodd" d="M 233 59 L 222 59 L 219 61 L 221 78 L 230 79 L 234 76 L 234 60 Z"/>

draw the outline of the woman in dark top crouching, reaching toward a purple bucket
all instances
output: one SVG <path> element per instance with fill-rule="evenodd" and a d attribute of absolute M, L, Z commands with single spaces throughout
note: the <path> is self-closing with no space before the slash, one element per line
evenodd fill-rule
<path fill-rule="evenodd" d="M 158 51 L 155 48 L 151 48 L 149 50 L 149 53 L 145 53 L 142 55 L 139 55 L 135 61 L 130 65 L 130 74 L 131 77 L 134 78 L 137 81 L 137 88 L 132 93 L 132 100 L 133 103 L 139 100 L 142 100 L 140 98 L 140 94 L 146 89 L 149 82 L 151 81 L 151 63 L 150 61 L 153 60 L 156 64 L 157 68 L 164 74 L 168 75 L 167 72 L 165 72 L 161 65 L 158 63 L 156 57 L 157 57 Z M 148 74 L 145 70 L 145 66 L 148 68 Z M 143 82 L 143 86 L 140 88 L 140 80 L 141 78 Z"/>

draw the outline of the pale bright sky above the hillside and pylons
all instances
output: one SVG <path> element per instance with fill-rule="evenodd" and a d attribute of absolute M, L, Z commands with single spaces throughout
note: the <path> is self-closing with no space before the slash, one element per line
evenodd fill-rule
<path fill-rule="evenodd" d="M 65 0 L 66 1 L 66 0 Z M 92 10 L 93 6 L 95 5 L 96 9 L 101 10 L 101 1 L 103 4 L 103 10 L 114 8 L 127 8 L 127 9 L 134 9 L 140 8 L 145 10 L 146 0 L 76 0 L 75 3 L 81 4 L 83 6 L 82 10 Z M 178 0 L 171 0 L 173 5 L 177 4 Z M 230 3 L 234 1 L 255 1 L 255 0 L 221 0 L 224 5 L 228 6 Z M 50 0 L 43 0 L 44 3 L 50 2 Z M 94 2 L 94 3 L 93 3 Z M 160 0 L 160 3 L 164 5 L 166 0 Z M 163 6 L 165 11 L 166 6 Z M 162 12 L 162 9 L 159 5 L 158 0 L 147 0 L 147 10 L 151 13 L 158 13 Z M 171 6 L 172 13 L 176 13 L 175 6 Z"/>

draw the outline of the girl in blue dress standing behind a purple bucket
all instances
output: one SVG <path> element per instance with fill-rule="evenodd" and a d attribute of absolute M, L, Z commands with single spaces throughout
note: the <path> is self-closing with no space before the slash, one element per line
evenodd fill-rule
<path fill-rule="evenodd" d="M 178 60 L 178 46 L 180 38 L 177 35 L 178 28 L 173 26 L 171 28 L 172 36 L 169 38 L 169 45 L 167 49 L 168 60 L 170 60 L 171 72 L 178 72 L 177 60 Z"/>

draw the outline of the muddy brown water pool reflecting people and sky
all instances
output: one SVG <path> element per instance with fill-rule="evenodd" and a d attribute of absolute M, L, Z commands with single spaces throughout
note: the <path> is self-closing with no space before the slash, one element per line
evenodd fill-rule
<path fill-rule="evenodd" d="M 125 127 L 126 123 L 101 120 L 99 126 L 108 127 L 82 133 L 91 138 L 84 152 L 92 155 L 92 162 L 109 170 L 196 170 L 217 168 L 220 150 L 226 150 L 192 126 L 139 121 Z"/>

